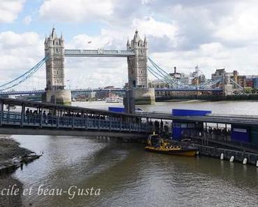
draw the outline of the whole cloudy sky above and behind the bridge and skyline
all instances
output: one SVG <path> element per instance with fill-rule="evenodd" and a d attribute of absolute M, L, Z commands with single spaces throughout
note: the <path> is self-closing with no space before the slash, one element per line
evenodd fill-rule
<path fill-rule="evenodd" d="M 53 26 L 66 49 L 126 49 L 138 29 L 168 72 L 198 65 L 207 77 L 215 68 L 258 75 L 255 0 L 0 0 L 0 84 L 43 58 Z M 72 88 L 122 86 L 126 58 L 66 58 L 66 79 Z M 21 88 L 31 87 L 45 87 L 45 66 Z"/>

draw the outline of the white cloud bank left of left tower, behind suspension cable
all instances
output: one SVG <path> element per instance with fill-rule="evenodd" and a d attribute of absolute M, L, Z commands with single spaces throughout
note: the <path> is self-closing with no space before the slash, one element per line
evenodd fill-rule
<path fill-rule="evenodd" d="M 43 59 L 44 40 L 40 39 L 38 33 L 26 32 L 15 33 L 4 31 L 0 33 L 0 71 L 1 84 L 22 75 L 24 72 Z M 40 89 L 45 87 L 45 70 L 37 72 L 29 82 L 22 84 L 20 90 L 26 89 L 31 82 Z M 32 87 L 31 87 L 32 89 Z"/>

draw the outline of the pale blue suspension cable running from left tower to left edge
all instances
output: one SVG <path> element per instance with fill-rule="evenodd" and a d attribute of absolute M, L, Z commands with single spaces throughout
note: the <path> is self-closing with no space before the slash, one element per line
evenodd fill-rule
<path fill-rule="evenodd" d="M 0 91 L 4 91 L 7 89 L 12 89 L 13 87 L 22 84 L 26 79 L 29 79 L 35 72 L 37 72 L 40 67 L 45 63 L 45 61 L 48 59 L 47 56 L 45 56 L 42 60 L 40 60 L 36 66 L 33 66 L 33 68 L 29 69 L 28 71 L 24 72 L 19 77 L 16 77 L 15 79 L 7 82 L 6 84 L 0 85 Z"/>

